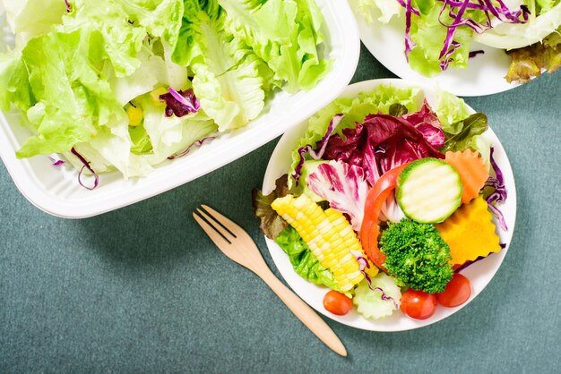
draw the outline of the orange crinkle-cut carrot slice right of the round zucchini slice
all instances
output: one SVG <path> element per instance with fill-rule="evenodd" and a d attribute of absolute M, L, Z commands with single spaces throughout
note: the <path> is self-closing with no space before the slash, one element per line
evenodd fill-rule
<path fill-rule="evenodd" d="M 452 165 L 462 179 L 462 203 L 468 203 L 479 196 L 479 190 L 488 180 L 488 167 L 479 157 L 479 152 L 465 149 L 462 152 L 448 151 L 444 161 Z"/>

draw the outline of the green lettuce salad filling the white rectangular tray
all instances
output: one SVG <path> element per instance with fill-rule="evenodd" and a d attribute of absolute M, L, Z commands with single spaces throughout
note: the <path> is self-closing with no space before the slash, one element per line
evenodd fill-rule
<path fill-rule="evenodd" d="M 332 69 L 315 0 L 2 3 L 0 107 L 31 133 L 17 157 L 60 155 L 80 176 L 149 174 Z"/>

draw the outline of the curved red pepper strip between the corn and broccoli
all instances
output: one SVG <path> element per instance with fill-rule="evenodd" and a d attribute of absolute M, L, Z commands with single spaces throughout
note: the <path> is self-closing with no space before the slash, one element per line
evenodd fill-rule
<path fill-rule="evenodd" d="M 401 170 L 408 164 L 394 167 L 384 173 L 376 181 L 370 191 L 368 191 L 367 202 L 364 208 L 364 218 L 360 226 L 360 242 L 364 248 L 368 259 L 375 263 L 375 266 L 385 271 L 383 264 L 385 255 L 378 248 L 378 235 L 380 234 L 380 227 L 378 226 L 378 217 L 382 210 L 382 205 L 385 200 L 390 197 L 390 194 L 395 189 L 397 177 Z"/>

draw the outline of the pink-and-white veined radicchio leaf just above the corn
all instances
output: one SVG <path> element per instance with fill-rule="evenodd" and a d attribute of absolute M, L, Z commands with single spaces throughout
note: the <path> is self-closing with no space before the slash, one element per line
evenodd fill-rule
<path fill-rule="evenodd" d="M 306 181 L 310 190 L 329 201 L 331 208 L 348 214 L 353 230 L 360 231 L 368 194 L 368 183 L 361 167 L 331 161 L 317 166 Z"/>

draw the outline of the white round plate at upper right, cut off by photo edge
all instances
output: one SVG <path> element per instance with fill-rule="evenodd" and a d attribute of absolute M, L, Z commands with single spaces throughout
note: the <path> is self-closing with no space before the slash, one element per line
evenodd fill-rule
<path fill-rule="evenodd" d="M 367 23 L 362 16 L 355 13 L 360 39 L 375 59 L 398 77 L 414 81 L 421 85 L 437 84 L 441 89 L 456 96 L 484 96 L 508 89 L 514 89 L 519 83 L 505 80 L 510 58 L 504 49 L 498 49 L 472 42 L 471 51 L 482 50 L 483 54 L 470 58 L 467 69 L 453 67 L 438 75 L 428 78 L 410 68 L 404 55 L 405 21 L 404 17 L 393 17 L 388 24 L 380 21 Z"/>

